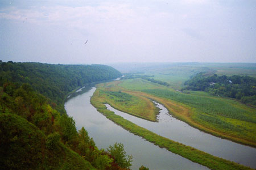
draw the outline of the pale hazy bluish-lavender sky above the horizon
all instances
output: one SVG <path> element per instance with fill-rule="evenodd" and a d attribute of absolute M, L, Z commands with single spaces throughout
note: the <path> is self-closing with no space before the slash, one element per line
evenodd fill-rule
<path fill-rule="evenodd" d="M 256 1 L 1 0 L 0 59 L 256 62 Z"/>

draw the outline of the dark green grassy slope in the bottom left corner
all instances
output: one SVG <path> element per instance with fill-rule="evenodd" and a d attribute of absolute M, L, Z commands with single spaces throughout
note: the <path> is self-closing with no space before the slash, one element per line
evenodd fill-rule
<path fill-rule="evenodd" d="M 56 133 L 46 137 L 35 125 L 16 114 L 0 113 L 0 129 L 1 169 L 94 169 L 62 145 Z"/>

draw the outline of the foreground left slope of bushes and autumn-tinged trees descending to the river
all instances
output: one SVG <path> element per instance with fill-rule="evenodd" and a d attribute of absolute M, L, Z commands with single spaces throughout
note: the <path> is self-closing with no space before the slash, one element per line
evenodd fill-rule
<path fill-rule="evenodd" d="M 112 155 L 98 150 L 84 128 L 77 132 L 75 120 L 53 109 L 47 104 L 47 98 L 37 94 L 31 86 L 23 84 L 15 87 L 11 94 L 13 96 L 2 91 L 0 97 L 1 155 L 9 156 L 1 160 L 3 169 L 79 169 L 81 165 L 82 169 L 93 169 L 92 165 L 98 169 L 119 167 L 114 163 Z M 15 114 L 10 116 L 10 112 Z M 5 114 L 14 117 L 13 120 L 6 120 Z M 23 122 L 19 125 L 20 120 Z M 31 126 L 36 134 L 31 133 L 31 128 L 27 126 Z M 6 152 L 5 148 L 10 150 Z M 75 154 L 73 151 L 71 153 L 70 148 L 81 156 L 69 158 Z M 65 156 L 61 156 L 63 154 Z M 79 164 L 74 166 L 73 163 L 77 161 Z M 89 168 L 85 168 L 84 163 Z"/>

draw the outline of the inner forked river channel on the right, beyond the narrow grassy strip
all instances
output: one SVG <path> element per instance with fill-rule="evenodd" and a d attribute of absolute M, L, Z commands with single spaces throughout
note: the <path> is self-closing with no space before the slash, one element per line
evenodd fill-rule
<path fill-rule="evenodd" d="M 167 108 L 162 104 L 156 103 L 155 101 L 154 103 L 156 104 L 156 107 L 160 108 L 160 113 L 158 114 L 159 122 L 151 122 L 131 116 L 130 114 L 112 108 L 109 104 L 106 104 L 106 107 L 126 120 L 163 137 L 183 143 L 184 145 L 195 147 L 211 155 L 231 160 L 251 168 L 256 168 L 255 148 L 221 139 L 195 129 L 168 114 Z"/>

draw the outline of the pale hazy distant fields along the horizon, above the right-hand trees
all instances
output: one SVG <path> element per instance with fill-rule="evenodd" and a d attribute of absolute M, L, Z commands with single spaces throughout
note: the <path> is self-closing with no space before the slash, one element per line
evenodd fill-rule
<path fill-rule="evenodd" d="M 181 89 L 184 82 L 198 73 L 207 75 L 248 75 L 256 77 L 255 63 L 118 63 L 112 64 L 123 74 L 151 75 L 155 80 L 170 84 L 170 87 Z"/>

